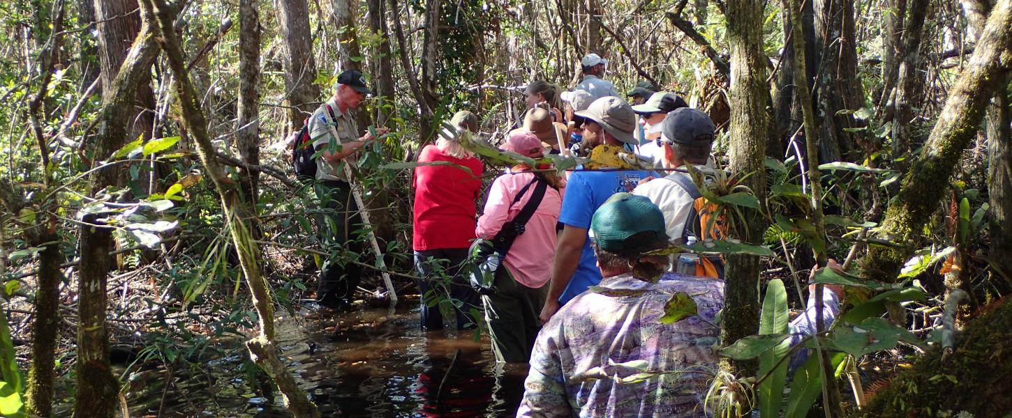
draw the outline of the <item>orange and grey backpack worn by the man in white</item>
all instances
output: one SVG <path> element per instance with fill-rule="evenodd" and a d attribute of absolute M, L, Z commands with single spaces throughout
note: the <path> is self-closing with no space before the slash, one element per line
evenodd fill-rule
<path fill-rule="evenodd" d="M 692 179 L 678 173 L 665 177 L 666 180 L 680 186 L 694 200 L 689 216 L 685 219 L 682 236 L 695 236 L 697 241 L 705 239 L 724 239 L 728 236 L 728 225 L 723 216 L 713 217 L 716 205 L 702 197 Z M 678 238 L 673 236 L 672 238 Z M 695 276 L 711 279 L 724 279 L 724 258 L 718 254 L 699 254 L 696 262 Z"/>

